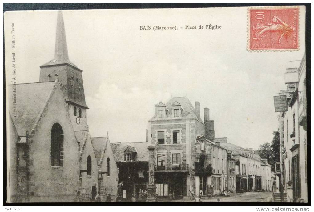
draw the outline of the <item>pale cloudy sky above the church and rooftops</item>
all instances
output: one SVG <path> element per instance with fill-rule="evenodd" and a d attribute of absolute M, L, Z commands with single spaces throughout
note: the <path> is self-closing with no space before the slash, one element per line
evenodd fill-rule
<path fill-rule="evenodd" d="M 14 23 L 17 82 L 38 82 L 39 66 L 54 57 L 57 11 L 6 12 L 4 19 L 6 55 Z M 247 8 L 67 10 L 63 19 L 69 59 L 83 70 L 89 131 L 108 131 L 111 143 L 144 142 L 154 104 L 187 96 L 200 102 L 202 119 L 202 108 L 210 109 L 216 137 L 257 149 L 278 129 L 273 96 L 305 52 L 304 13 L 293 52 L 248 52 Z M 206 24 L 222 27 L 185 30 Z M 178 30 L 140 30 L 154 25 Z M 11 72 L 7 66 L 7 83 Z"/>

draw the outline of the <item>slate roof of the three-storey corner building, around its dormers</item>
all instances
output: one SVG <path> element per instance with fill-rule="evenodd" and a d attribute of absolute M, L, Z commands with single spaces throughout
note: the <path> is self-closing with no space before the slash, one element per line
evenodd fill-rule
<path fill-rule="evenodd" d="M 191 101 L 183 96 L 183 97 L 173 97 L 171 98 L 166 104 L 166 108 L 169 110 L 167 112 L 167 117 L 173 117 L 172 116 L 172 105 L 178 105 L 178 103 L 181 105 L 181 108 L 183 109 L 183 111 L 181 112 L 181 117 L 183 118 L 196 118 L 197 116 L 195 114 L 195 108 L 192 105 Z M 157 120 L 158 117 L 156 117 L 156 114 L 154 115 L 154 117 L 152 117 L 150 120 Z M 200 120 L 202 123 L 202 119 Z"/>

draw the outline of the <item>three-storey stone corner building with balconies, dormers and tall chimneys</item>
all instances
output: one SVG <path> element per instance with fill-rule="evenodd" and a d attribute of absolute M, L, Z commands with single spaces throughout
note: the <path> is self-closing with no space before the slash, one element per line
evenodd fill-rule
<path fill-rule="evenodd" d="M 195 108 L 186 97 L 172 98 L 155 105 L 149 120 L 151 144 L 154 145 L 152 166 L 156 194 L 159 198 L 210 195 L 226 188 L 227 152 L 215 140 L 214 121 L 200 103 Z"/>

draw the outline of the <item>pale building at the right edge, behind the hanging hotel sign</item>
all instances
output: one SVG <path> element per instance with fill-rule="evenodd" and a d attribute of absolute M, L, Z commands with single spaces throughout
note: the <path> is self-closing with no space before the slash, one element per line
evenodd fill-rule
<path fill-rule="evenodd" d="M 306 137 L 306 61 L 305 54 L 296 68 L 285 72 L 287 111 L 281 112 L 282 183 L 287 201 L 307 202 L 307 137 Z M 278 166 L 280 169 L 280 166 Z M 278 172 L 278 171 L 277 171 Z M 280 171 L 279 171 L 280 172 Z"/>

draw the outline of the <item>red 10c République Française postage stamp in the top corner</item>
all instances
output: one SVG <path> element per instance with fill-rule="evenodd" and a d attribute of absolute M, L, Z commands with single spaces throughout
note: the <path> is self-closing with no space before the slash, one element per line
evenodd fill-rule
<path fill-rule="evenodd" d="M 249 8 L 248 50 L 299 48 L 299 8 Z"/>

